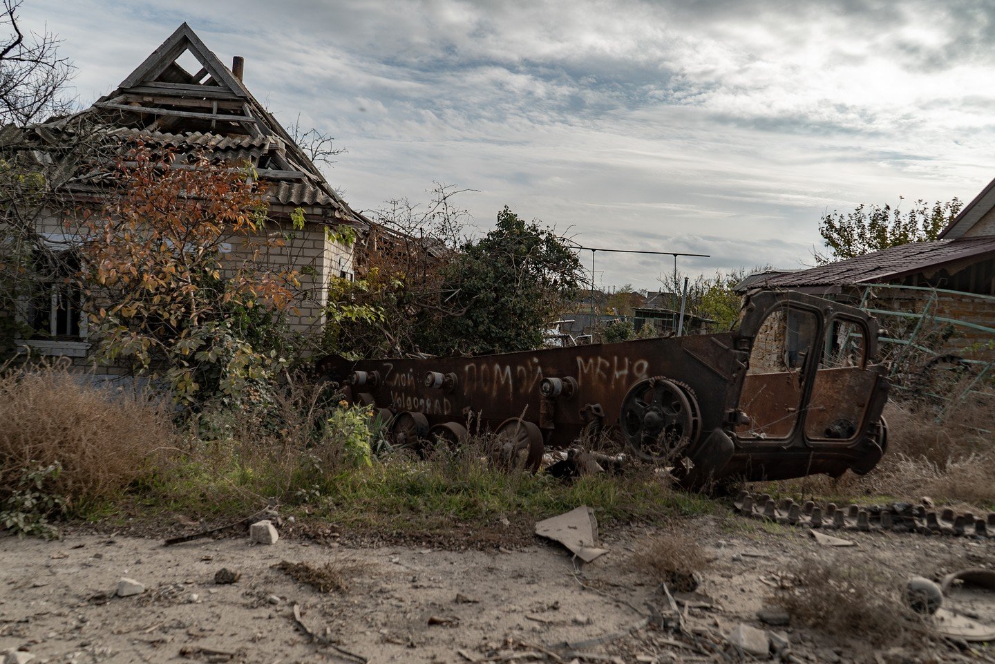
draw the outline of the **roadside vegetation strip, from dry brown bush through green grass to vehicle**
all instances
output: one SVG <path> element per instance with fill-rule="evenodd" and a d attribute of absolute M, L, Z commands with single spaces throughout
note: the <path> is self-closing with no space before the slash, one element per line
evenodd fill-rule
<path fill-rule="evenodd" d="M 16 469 L 29 459 L 61 462 L 54 490 L 90 506 L 75 518 L 154 524 L 182 515 L 223 524 L 276 501 L 302 529 L 320 525 L 395 539 L 439 535 L 456 544 L 493 529 L 489 544 L 499 545 L 504 535 L 523 538 L 535 521 L 581 505 L 605 524 L 653 523 L 713 506 L 672 490 L 646 466 L 572 481 L 506 472 L 489 461 L 490 434 L 419 459 L 380 444 L 368 409 L 339 407 L 323 387 L 304 382 L 263 405 L 205 408 L 178 428 L 147 402 L 108 398 L 65 372 L 7 378 L 2 389 L 10 398 L 0 412 L 10 423 L 0 424 L 0 452 L 7 450 L 0 461 Z M 26 491 L 18 495 L 21 503 L 31 498 Z M 502 533 L 508 524 L 514 532 Z"/>

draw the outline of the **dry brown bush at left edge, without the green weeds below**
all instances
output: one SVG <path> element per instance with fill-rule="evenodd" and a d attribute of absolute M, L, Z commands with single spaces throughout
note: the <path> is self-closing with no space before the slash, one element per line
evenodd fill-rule
<path fill-rule="evenodd" d="M 47 489 L 70 509 L 112 498 L 172 444 L 169 415 L 142 394 L 88 384 L 63 363 L 0 374 L 0 491 L 26 469 L 58 463 Z"/>

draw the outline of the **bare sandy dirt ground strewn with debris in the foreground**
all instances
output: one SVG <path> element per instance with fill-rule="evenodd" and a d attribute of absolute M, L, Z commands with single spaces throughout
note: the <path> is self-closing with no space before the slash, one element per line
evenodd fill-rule
<path fill-rule="evenodd" d="M 992 661 L 990 648 L 889 651 L 873 635 L 830 637 L 794 621 L 771 627 L 756 616 L 770 586 L 798 559 L 860 559 L 930 576 L 995 566 L 990 542 L 847 533 L 858 546 L 830 550 L 803 529 L 732 515 L 697 518 L 684 528 L 714 558 L 698 587 L 714 606 L 686 612 L 686 627 L 702 634 L 697 646 L 659 621 L 600 638 L 654 611 L 674 618 L 657 584 L 631 564 L 653 529 L 602 532 L 610 553 L 587 564 L 538 538 L 515 551 L 452 552 L 293 538 L 263 546 L 238 536 L 163 547 L 161 540 L 78 531 L 55 542 L 0 536 L 0 652 L 20 648 L 35 662 L 67 664 L 362 661 L 348 653 L 371 663 L 738 661 L 736 653 L 709 649 L 725 648 L 721 636 L 744 622 L 783 631 L 800 661 Z M 318 592 L 274 568 L 282 560 L 331 561 L 344 570 L 348 588 Z M 241 578 L 217 584 L 222 567 Z M 113 596 L 122 576 L 145 591 Z M 295 604 L 302 622 L 330 645 L 298 628 Z M 586 640 L 593 642 L 577 643 Z M 558 647 L 564 641 L 574 646 Z"/>

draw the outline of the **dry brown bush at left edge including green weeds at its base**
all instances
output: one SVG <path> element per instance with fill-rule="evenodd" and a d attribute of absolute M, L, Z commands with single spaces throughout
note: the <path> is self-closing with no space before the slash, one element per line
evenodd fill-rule
<path fill-rule="evenodd" d="M 65 362 L 0 373 L 0 528 L 54 535 L 48 520 L 100 513 L 175 441 L 171 413 Z"/>

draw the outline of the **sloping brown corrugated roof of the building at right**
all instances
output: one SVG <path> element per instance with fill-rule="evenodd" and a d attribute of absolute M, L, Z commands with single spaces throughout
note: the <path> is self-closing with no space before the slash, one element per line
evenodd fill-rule
<path fill-rule="evenodd" d="M 873 284 L 989 252 L 995 252 L 995 237 L 913 242 L 810 270 L 772 276 L 751 286 L 799 288 Z"/>

